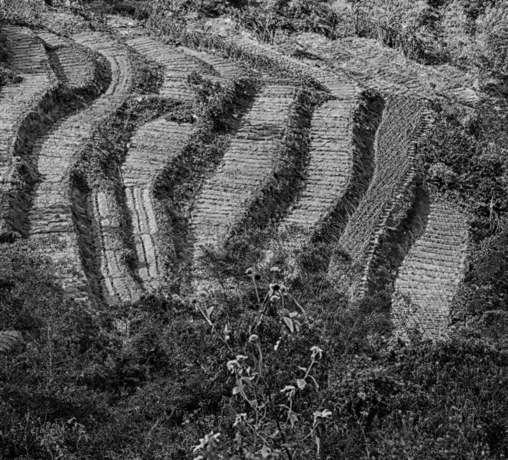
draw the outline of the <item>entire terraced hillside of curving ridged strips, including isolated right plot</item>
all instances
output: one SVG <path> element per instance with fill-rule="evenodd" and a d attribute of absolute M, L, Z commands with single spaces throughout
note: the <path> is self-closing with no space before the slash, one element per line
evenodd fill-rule
<path fill-rule="evenodd" d="M 342 260 L 332 257 L 329 280 L 353 297 L 368 292 L 381 242 L 413 205 L 416 148 L 427 127 L 427 103 L 414 92 L 421 82 L 409 84 L 387 72 L 389 82 L 379 80 L 371 91 L 372 82 L 350 72 L 351 58 L 341 70 L 320 68 L 297 58 L 288 42 L 269 46 L 179 26 L 170 28 L 168 40 L 153 34 L 153 24 L 145 29 L 135 22 L 116 24 L 114 33 L 68 38 L 2 29 L 9 66 L 22 77 L 0 94 L 3 238 L 39 239 L 68 295 L 94 305 L 135 301 L 164 286 L 170 268 L 182 263 L 170 206 L 175 197 L 168 192 L 175 185 L 168 181 L 178 179 L 195 143 L 204 148 L 215 133 L 195 122 L 196 116 L 156 116 L 125 134 L 124 155 L 114 171 L 105 172 L 102 186 L 81 184 L 76 165 L 86 147 L 97 144 L 98 127 L 120 119 L 130 97 L 192 110 L 192 72 L 217 83 L 247 78 L 257 92 L 241 114 L 229 114 L 233 123 L 220 135 L 225 148 L 214 150 L 220 158 L 196 172 L 199 185 L 185 203 L 185 263 L 198 274 L 203 248 L 224 249 L 249 225 L 275 223 L 288 230 L 283 244 L 295 252 L 318 239 L 331 252 L 340 249 L 361 275 L 342 285 Z M 332 57 L 321 52 L 318 60 L 330 63 Z M 162 80 L 142 97 L 134 82 L 140 56 L 162 69 Z M 460 88 L 465 86 L 439 90 L 457 96 Z M 68 101 L 73 102 L 64 110 Z M 43 128 L 29 135 L 32 124 Z M 16 188 L 21 164 L 28 173 Z M 18 213 L 16 203 L 22 205 Z M 446 222 L 449 233 L 443 233 Z M 399 270 L 395 322 L 419 325 L 430 337 L 443 335 L 445 310 L 463 270 L 465 222 L 442 202 L 432 205 L 426 232 Z M 322 224 L 329 232 L 316 238 Z M 447 247 L 451 252 L 440 264 L 438 249 Z M 434 262 L 425 265 L 422 258 Z M 399 299 L 407 296 L 416 313 L 399 319 L 407 310 Z"/>

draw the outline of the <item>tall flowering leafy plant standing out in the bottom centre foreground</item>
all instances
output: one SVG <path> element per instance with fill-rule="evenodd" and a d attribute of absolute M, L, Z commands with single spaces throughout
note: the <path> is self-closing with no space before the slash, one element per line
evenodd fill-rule
<path fill-rule="evenodd" d="M 272 267 L 270 271 L 275 277 L 280 273 L 278 267 Z M 214 307 L 207 305 L 205 292 L 201 292 L 199 298 L 192 300 L 211 327 L 212 333 L 228 350 L 231 359 L 228 360 L 226 366 L 235 381 L 232 393 L 233 396 L 242 400 L 247 409 L 246 412 L 235 415 L 233 428 L 236 429 L 236 434 L 233 448 L 219 452 L 218 437 L 220 433 L 211 432 L 195 446 L 194 452 L 207 448 L 212 455 L 211 458 L 227 455 L 230 460 L 240 460 L 240 458 L 261 460 L 262 458 L 275 459 L 285 456 L 288 460 L 292 460 L 292 458 L 298 458 L 296 452 L 300 452 L 299 455 L 302 454 L 302 446 L 298 446 L 292 436 L 307 432 L 299 443 L 308 438 L 313 439 L 319 455 L 321 448 L 320 423 L 322 419 L 329 417 L 332 413 L 326 409 L 315 410 L 312 419 L 306 420 L 304 416 L 295 411 L 295 406 L 299 392 L 304 391 L 307 385 L 313 384 L 316 391 L 320 390 L 319 383 L 312 375 L 312 371 L 313 367 L 320 363 L 323 350 L 315 345 L 312 346 L 310 348 L 310 363 L 306 367 L 298 366 L 299 372 L 295 375 L 294 381 L 287 382 L 288 384 L 282 388 L 274 387 L 270 375 L 276 370 L 276 362 L 270 365 L 270 360 L 265 355 L 266 348 L 273 346 L 276 353 L 288 336 L 300 331 L 302 323 L 299 318 L 300 315 L 306 316 L 306 312 L 283 284 L 271 283 L 266 294 L 260 297 L 258 281 L 261 276 L 251 268 L 247 269 L 245 274 L 252 280 L 259 308 L 248 327 L 248 339 L 241 348 L 239 348 L 239 343 L 236 344 L 236 347 L 232 344 L 232 335 L 235 334 L 235 331 L 230 330 L 227 323 L 223 332 L 219 332 L 212 320 Z M 295 307 L 299 311 L 290 311 Z M 278 316 L 282 325 L 280 336 L 273 345 L 267 343 L 263 337 L 263 330 L 268 325 L 267 317 L 270 315 Z M 298 376 L 298 374 L 300 375 Z M 250 445 L 246 443 L 245 435 L 247 433 L 250 435 Z M 256 448 L 258 445 L 261 446 L 260 449 Z M 233 452 L 238 453 L 233 454 Z M 203 456 L 199 455 L 195 460 L 201 458 Z"/>

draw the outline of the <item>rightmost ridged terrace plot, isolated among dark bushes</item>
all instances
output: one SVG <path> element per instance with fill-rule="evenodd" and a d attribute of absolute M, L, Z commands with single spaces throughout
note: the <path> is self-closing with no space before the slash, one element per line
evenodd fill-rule
<path fill-rule="evenodd" d="M 450 304 L 464 276 L 467 216 L 453 201 L 436 198 L 424 234 L 410 248 L 395 281 L 392 318 L 399 333 L 446 337 Z"/>

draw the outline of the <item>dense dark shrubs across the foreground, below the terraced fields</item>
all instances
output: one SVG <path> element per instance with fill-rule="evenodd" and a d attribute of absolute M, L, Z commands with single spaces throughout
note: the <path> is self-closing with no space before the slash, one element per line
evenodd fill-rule
<path fill-rule="evenodd" d="M 205 458 L 263 445 L 264 458 L 287 458 L 286 449 L 314 458 L 317 448 L 317 458 L 508 453 L 508 348 L 492 330 L 492 320 L 505 324 L 503 309 L 446 343 L 390 343 L 375 298 L 348 304 L 307 273 L 272 284 L 276 298 L 263 306 L 254 283 L 263 302 L 282 274 L 244 275 L 243 259 L 211 254 L 209 269 L 230 289 L 192 299 L 174 280 L 135 305 L 94 312 L 62 297 L 34 249 L 2 251 L 1 327 L 23 337 L 0 358 L 3 458 L 194 458 L 200 438 Z M 244 383 L 249 400 L 273 399 L 258 420 L 263 410 L 240 398 L 241 369 L 261 375 Z M 210 432 L 221 433 L 216 448 Z"/>

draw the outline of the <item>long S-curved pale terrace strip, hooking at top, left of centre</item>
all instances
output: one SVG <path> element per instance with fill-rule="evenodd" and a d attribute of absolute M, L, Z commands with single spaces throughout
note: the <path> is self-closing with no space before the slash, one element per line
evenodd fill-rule
<path fill-rule="evenodd" d="M 80 34 L 73 39 L 99 51 L 111 66 L 111 83 L 93 104 L 56 123 L 36 146 L 36 164 L 41 182 L 33 197 L 30 211 L 30 235 L 33 238 L 53 237 L 45 252 L 58 262 L 63 287 L 68 295 L 85 299 L 88 294 L 99 296 L 100 280 L 94 273 L 93 257 L 81 257 L 79 238 L 89 238 L 84 196 L 72 192 L 70 175 L 80 158 L 84 144 L 91 140 L 94 128 L 118 109 L 128 95 L 132 69 L 125 49 L 119 48 L 108 36 L 99 32 Z M 79 235 L 79 236 L 78 236 Z M 91 246 L 91 241 L 84 241 Z M 84 274 L 88 265 L 89 279 Z"/>

